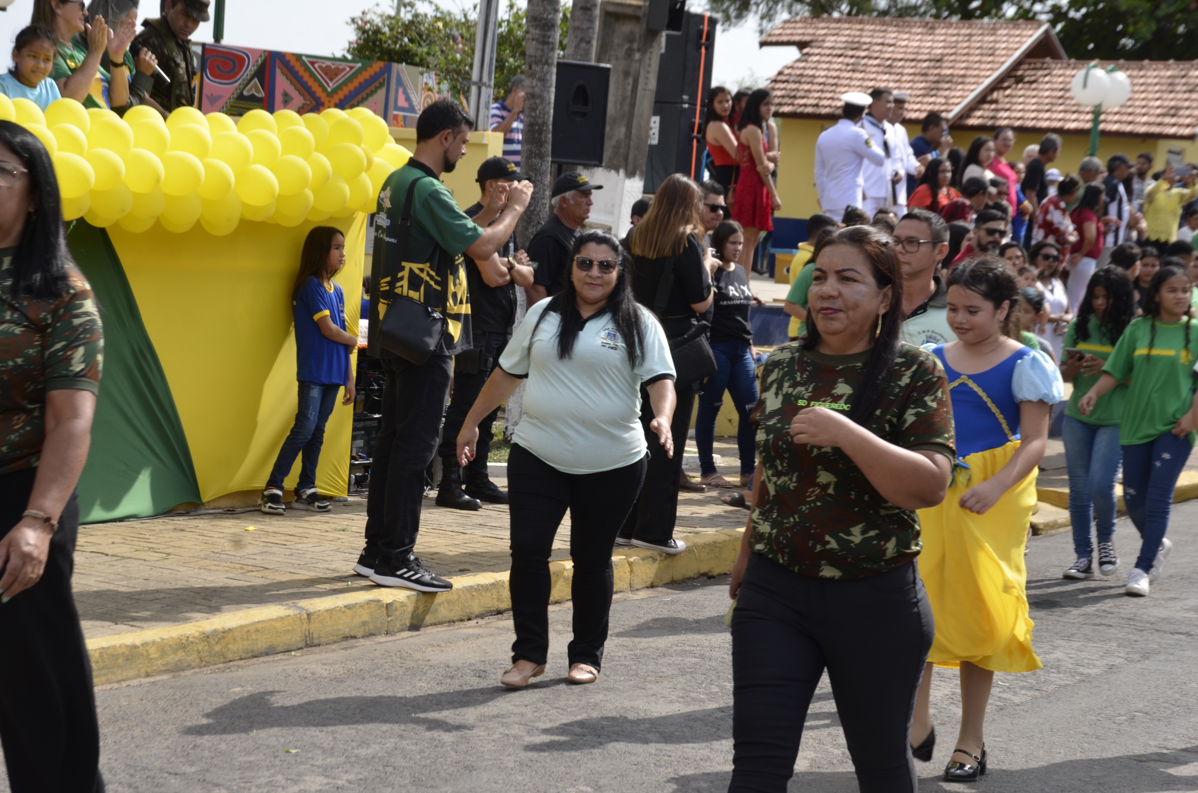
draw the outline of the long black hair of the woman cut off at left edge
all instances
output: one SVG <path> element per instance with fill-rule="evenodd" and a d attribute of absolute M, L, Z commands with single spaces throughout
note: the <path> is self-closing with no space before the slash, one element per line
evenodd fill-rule
<path fill-rule="evenodd" d="M 34 202 L 34 211 L 22 216 L 24 229 L 12 255 L 12 293 L 60 297 L 68 290 L 67 272 L 74 259 L 62 229 L 62 201 L 50 155 L 34 133 L 12 121 L 0 121 L 0 143 L 29 171 L 29 199 Z"/>

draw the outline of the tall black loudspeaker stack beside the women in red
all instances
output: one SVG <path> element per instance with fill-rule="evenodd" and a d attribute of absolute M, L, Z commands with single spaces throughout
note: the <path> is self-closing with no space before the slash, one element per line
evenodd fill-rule
<path fill-rule="evenodd" d="M 666 34 L 645 163 L 645 192 L 655 193 L 670 174 L 697 178 L 707 144 L 704 102 L 712 89 L 715 17 L 685 13 L 682 31 Z"/>

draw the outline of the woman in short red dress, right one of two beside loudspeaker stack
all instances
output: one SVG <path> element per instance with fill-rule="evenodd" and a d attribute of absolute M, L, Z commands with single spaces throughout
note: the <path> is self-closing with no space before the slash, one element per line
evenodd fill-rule
<path fill-rule="evenodd" d="M 749 95 L 744 113 L 737 126 L 740 140 L 737 158 L 740 176 L 737 180 L 737 201 L 732 205 L 732 219 L 744 226 L 745 247 L 740 250 L 740 266 L 745 274 L 752 271 L 752 253 L 762 231 L 774 230 L 773 212 L 782 208 L 778 188 L 770 174 L 774 172 L 772 157 L 766 149 L 766 125 L 774 115 L 774 93 L 769 89 L 757 89 Z"/>

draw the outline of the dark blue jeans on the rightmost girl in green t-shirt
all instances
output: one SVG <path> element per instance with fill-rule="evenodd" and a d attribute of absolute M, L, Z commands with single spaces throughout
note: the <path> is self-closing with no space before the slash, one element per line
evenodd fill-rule
<path fill-rule="evenodd" d="M 1169 527 L 1173 489 L 1190 458 L 1190 440 L 1166 432 L 1155 441 L 1124 447 L 1124 504 L 1143 544 L 1136 567 L 1152 569 Z"/>

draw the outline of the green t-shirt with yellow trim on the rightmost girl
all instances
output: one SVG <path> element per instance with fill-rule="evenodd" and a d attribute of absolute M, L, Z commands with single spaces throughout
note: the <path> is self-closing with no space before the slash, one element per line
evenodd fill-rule
<path fill-rule="evenodd" d="M 1156 333 L 1152 334 L 1152 327 Z M 1190 326 L 1190 345 L 1185 344 Z M 1198 322 L 1166 325 L 1150 316 L 1132 320 L 1102 368 L 1119 382 L 1131 379 L 1124 398 L 1119 443 L 1148 443 L 1170 431 L 1193 402 Z M 1194 434 L 1190 434 L 1193 446 Z"/>

